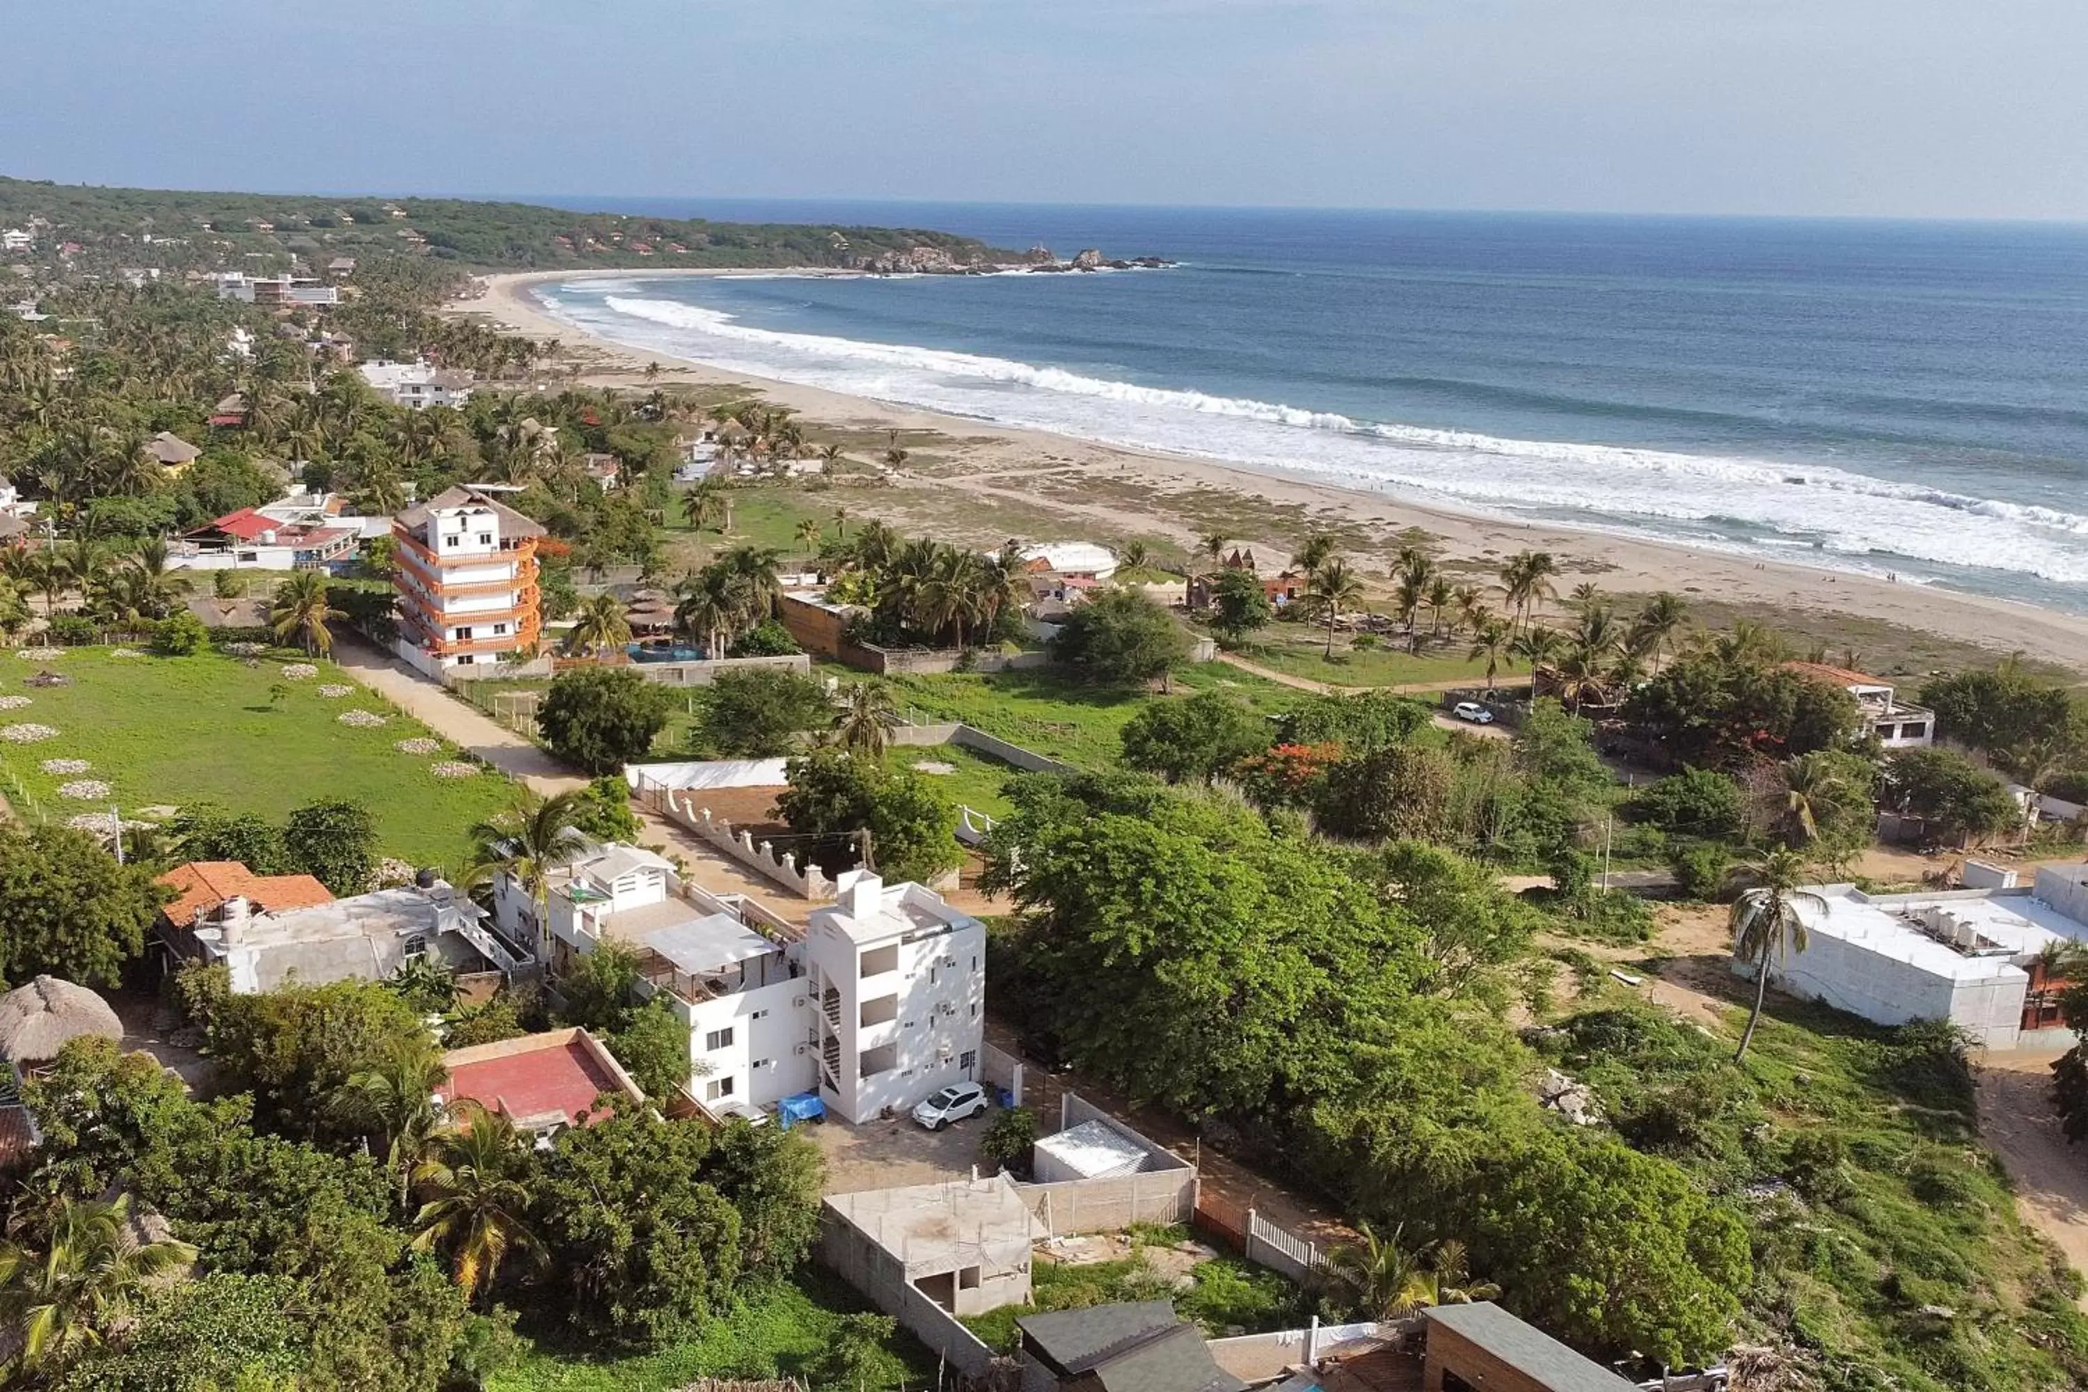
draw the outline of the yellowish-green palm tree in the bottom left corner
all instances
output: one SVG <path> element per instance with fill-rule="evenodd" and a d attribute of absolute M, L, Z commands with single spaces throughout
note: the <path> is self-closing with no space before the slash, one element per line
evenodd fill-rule
<path fill-rule="evenodd" d="M 129 1204 L 129 1194 L 111 1202 L 65 1198 L 42 1252 L 0 1244 L 0 1321 L 21 1340 L 19 1369 L 61 1367 L 100 1344 L 152 1283 L 196 1261 L 186 1242 L 138 1242 Z"/>

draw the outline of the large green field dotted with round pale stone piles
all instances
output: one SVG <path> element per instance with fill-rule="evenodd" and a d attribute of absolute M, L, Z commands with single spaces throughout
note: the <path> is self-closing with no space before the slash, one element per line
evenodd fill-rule
<path fill-rule="evenodd" d="M 313 797 L 349 797 L 378 820 L 380 847 L 416 864 L 449 864 L 466 854 L 466 829 L 505 806 L 512 785 L 491 770 L 474 778 L 436 778 L 428 766 L 455 760 L 401 753 L 401 739 L 430 730 L 384 705 L 367 689 L 319 664 L 317 676 L 286 680 L 276 653 L 248 668 L 236 657 L 115 657 L 115 649 L 69 649 L 48 664 L 0 651 L 0 695 L 25 695 L 29 705 L 0 712 L 0 728 L 44 724 L 56 737 L 0 743 L 0 791 L 23 816 L 63 820 L 77 812 L 217 801 L 234 812 L 259 812 L 280 822 Z M 25 687 L 38 668 L 71 678 L 69 687 Z M 322 685 L 353 687 L 338 699 Z M 274 689 L 282 691 L 274 691 Z M 340 724 L 347 710 L 376 712 L 384 724 Z M 44 760 L 88 760 L 75 774 L 48 774 Z M 98 778 L 111 795 L 71 801 L 58 785 Z"/>

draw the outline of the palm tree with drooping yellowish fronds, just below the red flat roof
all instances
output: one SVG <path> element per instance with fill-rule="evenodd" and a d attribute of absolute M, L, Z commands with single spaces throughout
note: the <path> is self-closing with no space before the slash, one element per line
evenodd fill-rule
<path fill-rule="evenodd" d="M 526 1167 L 514 1123 L 470 1100 L 457 1104 L 455 1127 L 434 1135 L 432 1154 L 413 1167 L 413 1183 L 428 1196 L 413 1215 L 413 1248 L 449 1252 L 466 1302 L 493 1288 L 509 1252 L 543 1250 L 524 1223 Z"/>

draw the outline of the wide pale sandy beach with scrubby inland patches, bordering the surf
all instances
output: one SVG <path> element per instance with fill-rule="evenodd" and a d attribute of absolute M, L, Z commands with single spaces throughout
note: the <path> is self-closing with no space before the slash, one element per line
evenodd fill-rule
<path fill-rule="evenodd" d="M 628 278 L 633 271 L 614 271 L 614 275 Z M 933 528 L 938 536 L 950 541 L 990 545 L 998 541 L 988 524 L 996 511 L 1031 518 L 1042 511 L 1061 520 L 1067 534 L 1102 541 L 1144 536 L 1194 545 L 1203 532 L 1226 530 L 1238 545 L 1251 545 L 1257 553 L 1280 561 L 1288 555 L 1299 526 L 1340 526 L 1347 532 L 1345 545 L 1351 536 L 1361 538 L 1361 545 L 1351 549 L 1363 568 L 1382 576 L 1393 551 L 1409 538 L 1411 528 L 1418 528 L 1432 538 L 1430 545 L 1445 570 L 1462 572 L 1460 578 L 1478 580 L 1516 551 L 1551 551 L 1564 570 L 1560 593 L 1581 580 L 1591 580 L 1604 591 L 1620 595 L 1675 591 L 1695 601 L 1762 605 L 1785 614 L 1848 616 L 1944 634 L 1986 647 L 1996 655 L 2023 651 L 2027 657 L 2088 672 L 2088 618 L 1959 595 L 1933 584 L 1896 584 L 1848 572 L 1756 561 L 1743 555 L 1670 547 L 1560 524 L 1464 515 L 1416 505 L 1389 493 L 1351 490 L 1207 459 L 1094 445 L 725 371 L 699 361 L 628 349 L 547 315 L 528 294 L 530 284 L 547 280 L 574 280 L 574 273 L 489 275 L 480 282 L 482 294 L 457 301 L 449 309 L 487 315 L 530 338 L 555 338 L 566 349 L 583 349 L 587 367 L 580 380 L 585 382 L 641 388 L 672 382 L 737 384 L 758 392 L 764 401 L 798 411 L 808 426 L 848 432 L 898 430 L 904 445 L 929 463 L 919 470 L 908 463 L 904 486 L 892 490 L 889 505 L 869 499 L 862 511 L 885 515 L 894 526 Z M 641 376 L 647 363 L 662 367 L 662 374 L 651 382 Z M 938 497 L 952 505 L 965 501 L 965 513 L 973 526 L 967 528 L 948 511 L 940 511 Z M 1226 528 L 1228 522 L 1238 530 Z M 1257 532 L 1257 526 L 1265 530 Z M 977 530 L 979 534 L 952 534 L 956 530 Z"/>

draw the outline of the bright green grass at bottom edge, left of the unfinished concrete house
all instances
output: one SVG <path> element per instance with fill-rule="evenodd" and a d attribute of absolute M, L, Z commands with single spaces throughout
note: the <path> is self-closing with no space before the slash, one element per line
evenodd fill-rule
<path fill-rule="evenodd" d="M 656 1352 L 603 1354 L 564 1348 L 551 1340 L 528 1344 L 520 1363 L 487 1386 L 489 1392 L 670 1392 L 702 1377 L 796 1377 L 810 1384 L 841 1315 L 867 1309 L 854 1292 L 808 1271 L 796 1283 L 750 1294 L 737 1311 L 702 1334 Z M 879 1388 L 923 1388 L 935 1382 L 933 1357 L 904 1329 L 885 1340 Z"/>

